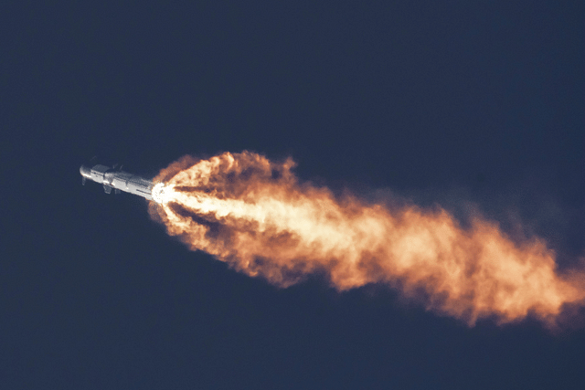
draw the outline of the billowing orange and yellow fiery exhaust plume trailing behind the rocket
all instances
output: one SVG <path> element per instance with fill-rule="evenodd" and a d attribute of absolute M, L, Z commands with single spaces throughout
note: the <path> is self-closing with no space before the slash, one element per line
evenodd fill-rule
<path fill-rule="evenodd" d="M 493 222 L 463 229 L 444 210 L 388 209 L 299 183 L 294 163 L 256 153 L 186 156 L 155 179 L 151 215 L 191 249 L 287 287 L 322 272 L 337 290 L 388 283 L 472 326 L 528 314 L 553 324 L 585 299 L 582 271 L 561 275 L 541 239 L 515 243 Z"/>

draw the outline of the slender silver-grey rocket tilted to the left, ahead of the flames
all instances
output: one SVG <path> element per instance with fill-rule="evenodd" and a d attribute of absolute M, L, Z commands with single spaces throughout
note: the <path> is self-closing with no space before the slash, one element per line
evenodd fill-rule
<path fill-rule="evenodd" d="M 164 188 L 164 184 L 154 184 L 151 180 L 135 174 L 129 174 L 122 170 L 106 165 L 93 165 L 91 168 L 86 165 L 80 166 L 81 184 L 85 184 L 86 179 L 103 185 L 106 194 L 120 194 L 120 191 L 133 195 L 142 196 L 148 200 L 154 200 L 161 203 L 160 196 L 157 194 Z"/>

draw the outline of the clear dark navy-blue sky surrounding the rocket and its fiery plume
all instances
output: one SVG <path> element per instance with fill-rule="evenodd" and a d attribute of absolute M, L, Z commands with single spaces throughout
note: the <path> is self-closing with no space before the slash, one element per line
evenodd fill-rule
<path fill-rule="evenodd" d="M 0 387 L 575 388 L 585 331 L 469 329 L 384 286 L 287 290 L 79 166 L 288 155 L 585 253 L 579 1 L 18 2 L 0 23 Z"/>

